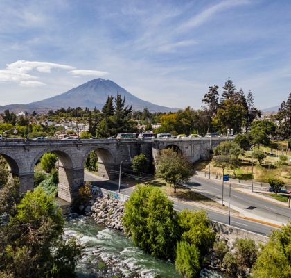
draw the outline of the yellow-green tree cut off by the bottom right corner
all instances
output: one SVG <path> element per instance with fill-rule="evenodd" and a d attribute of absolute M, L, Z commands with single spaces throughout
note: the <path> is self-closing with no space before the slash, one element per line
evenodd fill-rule
<path fill-rule="evenodd" d="M 256 278 L 291 277 L 291 222 L 273 231 L 253 267 Z"/>

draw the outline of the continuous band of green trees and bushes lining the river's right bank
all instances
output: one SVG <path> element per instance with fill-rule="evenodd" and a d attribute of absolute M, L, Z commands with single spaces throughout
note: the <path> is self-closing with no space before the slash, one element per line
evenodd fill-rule
<path fill-rule="evenodd" d="M 213 254 L 231 277 L 247 277 L 252 268 L 253 277 L 290 277 L 291 223 L 274 231 L 265 247 L 250 239 L 236 239 L 229 247 L 218 240 L 204 211 L 176 212 L 159 188 L 140 185 L 125 203 L 123 227 L 134 244 L 148 254 L 175 261 L 185 278 L 197 277 L 202 266 L 211 263 Z M 276 265 L 277 259 L 282 263 Z M 265 261 L 271 266 L 265 267 Z"/>

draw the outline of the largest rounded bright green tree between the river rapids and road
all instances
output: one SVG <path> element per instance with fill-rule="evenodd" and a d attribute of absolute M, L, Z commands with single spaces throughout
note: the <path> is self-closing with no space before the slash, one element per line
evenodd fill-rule
<path fill-rule="evenodd" d="M 173 202 L 159 188 L 136 187 L 125 203 L 123 226 L 145 252 L 173 259 L 178 236 L 176 213 Z"/>

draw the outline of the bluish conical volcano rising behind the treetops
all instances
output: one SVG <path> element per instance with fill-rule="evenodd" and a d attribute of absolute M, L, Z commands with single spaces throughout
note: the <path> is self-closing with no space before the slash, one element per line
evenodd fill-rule
<path fill-rule="evenodd" d="M 159 106 L 152 104 L 148 101 L 144 101 L 135 97 L 130 92 L 127 92 L 124 88 L 117 85 L 111 80 L 105 79 L 94 79 L 84 83 L 76 88 L 73 88 L 67 92 L 57 95 L 55 97 L 50 97 L 42 101 L 35 101 L 28 106 L 33 106 L 37 108 L 50 108 L 58 109 L 61 107 L 88 107 L 88 108 L 102 108 L 105 104 L 108 95 L 115 96 L 117 92 L 121 93 L 122 97 L 125 97 L 125 102 L 127 105 L 132 105 L 134 110 L 143 110 L 143 108 L 148 108 L 149 111 L 160 111 L 169 112 L 177 111 L 177 108 L 168 108 L 164 106 Z"/>

